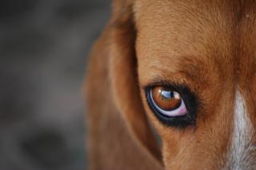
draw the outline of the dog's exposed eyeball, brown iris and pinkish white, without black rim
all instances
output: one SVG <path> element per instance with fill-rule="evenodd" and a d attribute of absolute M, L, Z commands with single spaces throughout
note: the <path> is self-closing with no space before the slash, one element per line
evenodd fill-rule
<path fill-rule="evenodd" d="M 150 89 L 150 100 L 153 107 L 165 116 L 182 116 L 186 114 L 186 106 L 180 94 L 168 87 Z"/>

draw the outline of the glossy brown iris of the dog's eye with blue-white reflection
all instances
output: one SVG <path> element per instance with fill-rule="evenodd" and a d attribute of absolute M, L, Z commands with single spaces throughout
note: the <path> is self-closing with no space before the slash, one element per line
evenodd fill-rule
<path fill-rule="evenodd" d="M 155 104 L 165 111 L 171 111 L 180 107 L 182 98 L 178 92 L 168 87 L 155 87 L 152 89 L 152 97 Z"/>

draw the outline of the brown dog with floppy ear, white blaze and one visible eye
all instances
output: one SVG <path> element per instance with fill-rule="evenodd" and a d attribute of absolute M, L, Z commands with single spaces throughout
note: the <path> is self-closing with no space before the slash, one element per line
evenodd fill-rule
<path fill-rule="evenodd" d="M 85 96 L 91 170 L 256 169 L 256 1 L 113 0 Z"/>

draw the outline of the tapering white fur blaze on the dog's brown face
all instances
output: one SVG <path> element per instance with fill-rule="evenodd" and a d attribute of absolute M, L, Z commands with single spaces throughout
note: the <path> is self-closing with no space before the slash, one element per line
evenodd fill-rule
<path fill-rule="evenodd" d="M 256 147 L 251 143 L 252 124 L 240 92 L 236 92 L 234 104 L 234 133 L 224 170 L 254 170 Z"/>

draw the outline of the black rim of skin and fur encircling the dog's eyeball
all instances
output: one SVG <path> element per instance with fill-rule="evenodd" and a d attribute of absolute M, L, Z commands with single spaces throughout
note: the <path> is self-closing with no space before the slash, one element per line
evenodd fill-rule
<path fill-rule="evenodd" d="M 153 104 L 153 99 L 151 98 L 151 90 L 155 87 L 166 87 L 173 91 L 176 91 L 182 97 L 187 109 L 186 115 L 177 116 L 177 117 L 170 117 L 166 116 L 161 113 Z M 148 106 L 150 107 L 151 111 L 154 113 L 156 118 L 162 122 L 166 126 L 172 126 L 177 128 L 185 128 L 187 126 L 194 126 L 196 121 L 196 110 L 198 107 L 198 100 L 191 92 L 191 90 L 186 85 L 166 85 L 166 84 L 158 84 L 158 85 L 148 85 L 144 88 L 146 100 Z"/>

